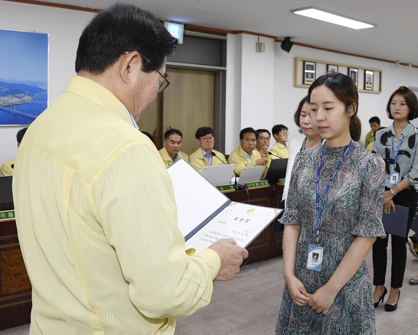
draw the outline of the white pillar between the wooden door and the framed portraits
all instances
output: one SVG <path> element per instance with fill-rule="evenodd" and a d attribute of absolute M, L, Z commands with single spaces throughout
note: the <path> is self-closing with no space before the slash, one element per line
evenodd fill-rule
<path fill-rule="evenodd" d="M 240 145 L 240 130 L 271 128 L 273 123 L 275 42 L 260 37 L 265 51 L 255 51 L 258 36 L 228 34 L 225 106 L 225 153 Z"/>

